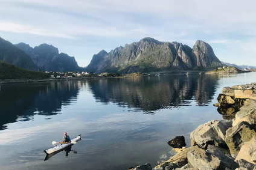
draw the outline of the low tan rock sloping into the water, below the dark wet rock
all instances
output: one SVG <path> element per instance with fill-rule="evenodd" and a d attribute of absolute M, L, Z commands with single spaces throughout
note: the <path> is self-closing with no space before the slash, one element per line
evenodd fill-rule
<path fill-rule="evenodd" d="M 185 148 L 181 152 L 177 153 L 173 157 L 171 157 L 169 160 L 167 160 L 165 163 L 175 163 L 179 167 L 182 167 L 188 163 L 187 155 L 188 151 L 196 150 L 197 146 Z M 164 163 L 161 163 L 160 165 L 156 166 L 155 169 L 161 169 L 163 167 Z M 165 165 L 164 165 L 165 166 Z"/>

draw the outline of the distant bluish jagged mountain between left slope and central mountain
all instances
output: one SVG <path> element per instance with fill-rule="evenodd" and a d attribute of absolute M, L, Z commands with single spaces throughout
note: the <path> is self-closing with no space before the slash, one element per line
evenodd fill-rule
<path fill-rule="evenodd" d="M 30 47 L 25 43 L 15 44 L 19 49 L 29 55 L 34 64 L 45 71 L 82 71 L 74 56 L 69 56 L 66 53 L 59 53 L 59 50 L 53 45 L 40 44 L 36 47 Z"/>

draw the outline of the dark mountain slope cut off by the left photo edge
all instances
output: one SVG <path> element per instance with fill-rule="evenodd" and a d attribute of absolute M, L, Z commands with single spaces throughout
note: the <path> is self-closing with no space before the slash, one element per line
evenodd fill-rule
<path fill-rule="evenodd" d="M 38 68 L 24 51 L 0 37 L 0 60 L 28 70 Z"/>

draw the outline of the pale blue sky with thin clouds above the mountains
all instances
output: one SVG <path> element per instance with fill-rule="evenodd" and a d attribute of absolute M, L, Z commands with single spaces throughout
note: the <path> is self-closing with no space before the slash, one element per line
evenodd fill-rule
<path fill-rule="evenodd" d="M 0 37 L 52 44 L 85 67 L 100 50 L 152 37 L 209 43 L 220 61 L 256 65 L 256 1 L 0 0 Z"/>

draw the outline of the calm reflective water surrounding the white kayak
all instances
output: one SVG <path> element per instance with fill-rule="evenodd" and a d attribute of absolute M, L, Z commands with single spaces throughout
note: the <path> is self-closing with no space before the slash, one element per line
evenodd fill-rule
<path fill-rule="evenodd" d="M 213 103 L 225 86 L 256 81 L 232 76 L 172 75 L 8 84 L 0 88 L 0 169 L 129 169 L 156 165 L 167 142 L 222 119 Z M 63 132 L 82 141 L 44 161 Z"/>

